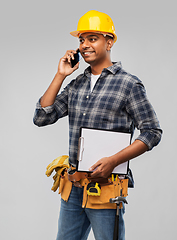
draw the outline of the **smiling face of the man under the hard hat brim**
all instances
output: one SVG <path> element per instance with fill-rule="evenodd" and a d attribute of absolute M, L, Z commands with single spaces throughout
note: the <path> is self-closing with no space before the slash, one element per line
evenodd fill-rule
<path fill-rule="evenodd" d="M 85 62 L 94 66 L 104 62 L 108 54 L 106 38 L 98 33 L 83 33 L 79 37 L 79 50 Z"/>

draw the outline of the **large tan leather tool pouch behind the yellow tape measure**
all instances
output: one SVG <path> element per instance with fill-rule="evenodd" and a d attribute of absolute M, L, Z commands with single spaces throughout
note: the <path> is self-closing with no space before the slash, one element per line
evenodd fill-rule
<path fill-rule="evenodd" d="M 87 185 L 89 181 L 85 179 L 84 193 L 83 193 L 83 203 L 82 206 L 92 209 L 116 209 L 116 204 L 110 203 L 110 198 L 115 198 L 118 196 L 126 197 L 128 195 L 128 179 L 110 182 L 107 185 L 101 186 L 100 196 L 91 196 L 87 194 Z M 122 206 L 121 206 L 122 207 Z"/>

